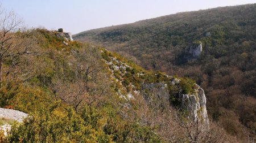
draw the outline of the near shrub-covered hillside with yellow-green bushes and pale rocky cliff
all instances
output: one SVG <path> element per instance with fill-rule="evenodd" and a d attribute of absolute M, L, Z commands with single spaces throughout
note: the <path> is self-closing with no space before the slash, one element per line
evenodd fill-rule
<path fill-rule="evenodd" d="M 26 112 L 28 118 L 11 123 L 7 136 L 0 129 L 0 142 L 247 140 L 208 120 L 203 89 L 189 78 L 146 71 L 58 31 L 6 33 L 2 49 L 9 47 L 9 56 L 2 60 L 0 107 Z M 195 103 L 180 95 L 195 97 Z"/>

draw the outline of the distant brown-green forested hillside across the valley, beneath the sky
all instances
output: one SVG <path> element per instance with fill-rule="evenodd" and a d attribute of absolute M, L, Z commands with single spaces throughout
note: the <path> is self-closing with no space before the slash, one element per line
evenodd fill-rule
<path fill-rule="evenodd" d="M 256 4 L 180 12 L 73 38 L 126 55 L 147 70 L 191 77 L 205 89 L 211 119 L 238 138 L 255 136 Z M 188 58 L 195 42 L 203 46 L 200 57 Z"/>

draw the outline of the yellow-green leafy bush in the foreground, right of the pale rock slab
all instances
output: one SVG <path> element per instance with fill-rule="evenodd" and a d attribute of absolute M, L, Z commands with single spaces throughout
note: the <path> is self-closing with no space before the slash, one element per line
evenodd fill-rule
<path fill-rule="evenodd" d="M 92 118 L 93 114 L 86 115 Z M 9 142 L 111 142 L 111 137 L 97 127 L 97 120 L 89 122 L 71 108 L 61 111 L 53 105 L 31 114 L 23 124 L 13 125 L 7 138 Z"/>

